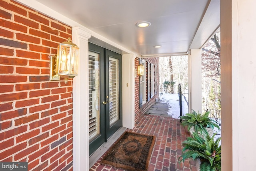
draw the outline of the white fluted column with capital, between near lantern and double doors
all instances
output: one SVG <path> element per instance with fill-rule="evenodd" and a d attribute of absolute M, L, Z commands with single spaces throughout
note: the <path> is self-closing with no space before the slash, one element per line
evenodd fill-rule
<path fill-rule="evenodd" d="M 90 33 L 80 27 L 72 28 L 74 44 L 80 48 L 78 76 L 73 78 L 73 170 L 89 170 L 89 85 L 88 39 Z"/>

